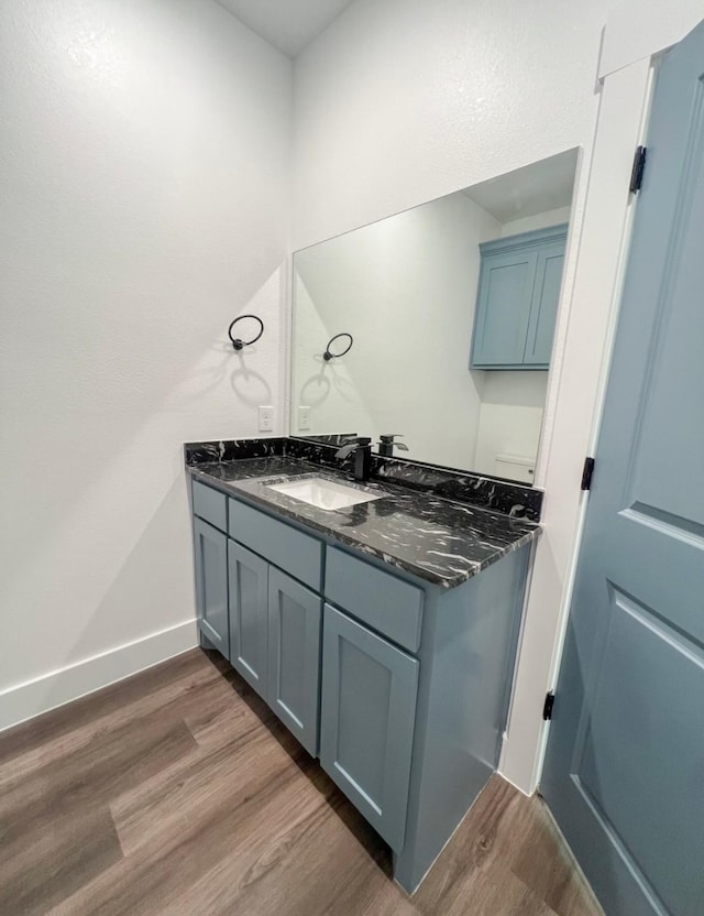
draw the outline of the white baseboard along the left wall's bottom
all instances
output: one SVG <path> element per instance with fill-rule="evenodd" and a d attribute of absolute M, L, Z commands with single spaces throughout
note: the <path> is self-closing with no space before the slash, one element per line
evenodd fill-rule
<path fill-rule="evenodd" d="M 187 620 L 127 645 L 18 684 L 0 693 L 0 731 L 92 694 L 198 645 L 195 620 Z"/>

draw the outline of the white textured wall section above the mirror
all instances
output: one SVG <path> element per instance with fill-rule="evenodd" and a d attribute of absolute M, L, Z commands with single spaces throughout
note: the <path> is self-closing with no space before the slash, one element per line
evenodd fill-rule
<path fill-rule="evenodd" d="M 606 0 L 356 0 L 295 64 L 294 248 L 588 144 Z"/>

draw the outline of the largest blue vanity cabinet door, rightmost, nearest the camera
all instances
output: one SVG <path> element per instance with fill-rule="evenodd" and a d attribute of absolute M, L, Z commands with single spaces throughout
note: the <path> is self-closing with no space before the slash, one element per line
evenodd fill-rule
<path fill-rule="evenodd" d="M 418 667 L 326 604 L 320 763 L 394 850 L 406 831 Z"/>

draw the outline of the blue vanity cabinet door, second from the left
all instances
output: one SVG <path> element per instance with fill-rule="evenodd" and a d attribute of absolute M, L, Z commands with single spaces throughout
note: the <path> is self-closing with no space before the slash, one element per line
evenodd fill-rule
<path fill-rule="evenodd" d="M 267 569 L 262 557 L 228 541 L 230 662 L 266 699 Z"/>

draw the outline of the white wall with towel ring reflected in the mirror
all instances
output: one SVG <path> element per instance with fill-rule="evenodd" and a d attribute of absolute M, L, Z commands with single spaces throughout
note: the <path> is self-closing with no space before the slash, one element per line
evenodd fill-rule
<path fill-rule="evenodd" d="M 403 457 L 473 467 L 487 374 L 469 369 L 479 244 L 499 233 L 460 193 L 297 252 L 294 400 L 314 434 L 402 433 Z M 324 362 L 340 331 L 354 346 Z"/>

